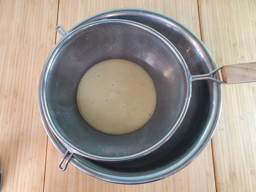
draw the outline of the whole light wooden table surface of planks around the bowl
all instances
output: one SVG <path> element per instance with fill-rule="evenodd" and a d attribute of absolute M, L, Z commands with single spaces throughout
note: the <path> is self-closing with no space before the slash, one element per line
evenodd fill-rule
<path fill-rule="evenodd" d="M 222 86 L 222 112 L 211 142 L 194 162 L 163 180 L 140 185 L 105 182 L 61 155 L 41 123 L 39 77 L 60 38 L 104 10 L 137 7 L 166 14 L 191 29 L 217 67 L 256 61 L 256 1 L 1 0 L 0 170 L 2 191 L 256 191 L 256 83 Z"/>

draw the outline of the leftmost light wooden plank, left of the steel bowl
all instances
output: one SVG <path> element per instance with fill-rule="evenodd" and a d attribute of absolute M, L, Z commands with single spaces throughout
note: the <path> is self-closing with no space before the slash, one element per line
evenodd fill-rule
<path fill-rule="evenodd" d="M 37 92 L 55 44 L 58 1 L 0 1 L 1 191 L 42 191 L 47 134 Z"/>

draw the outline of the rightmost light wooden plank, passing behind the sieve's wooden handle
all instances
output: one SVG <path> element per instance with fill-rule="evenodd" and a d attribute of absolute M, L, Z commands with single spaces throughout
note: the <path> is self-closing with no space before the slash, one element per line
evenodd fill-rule
<path fill-rule="evenodd" d="M 256 2 L 199 0 L 202 40 L 217 66 L 256 61 Z M 256 191 L 256 83 L 222 87 L 212 138 L 217 191 Z"/>

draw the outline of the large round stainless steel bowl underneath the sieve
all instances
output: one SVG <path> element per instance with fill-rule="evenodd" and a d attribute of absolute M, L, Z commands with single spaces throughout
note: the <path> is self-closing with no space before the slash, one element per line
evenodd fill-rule
<path fill-rule="evenodd" d="M 157 30 L 178 49 L 191 75 L 206 74 L 216 68 L 210 53 L 192 31 L 176 20 L 157 12 L 134 8 L 109 10 L 84 19 L 69 31 L 102 19 L 132 20 Z M 214 76 L 219 79 L 218 74 Z M 39 109 L 42 110 L 41 102 Z M 91 176 L 114 183 L 138 184 L 165 178 L 186 167 L 204 150 L 215 131 L 220 109 L 220 84 L 209 80 L 194 81 L 190 103 L 182 124 L 172 139 L 158 150 L 126 162 L 93 161 L 78 155 L 74 155 L 70 162 Z M 50 140 L 63 155 L 66 148 L 51 132 L 43 117 L 42 121 Z"/>

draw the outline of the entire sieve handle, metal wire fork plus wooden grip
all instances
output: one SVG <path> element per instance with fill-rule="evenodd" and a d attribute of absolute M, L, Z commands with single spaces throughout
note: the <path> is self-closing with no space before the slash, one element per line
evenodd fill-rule
<path fill-rule="evenodd" d="M 221 69 L 223 81 L 209 77 Z M 209 79 L 221 84 L 246 83 L 256 81 L 256 62 L 224 65 L 204 75 L 192 76 L 192 81 Z"/>

